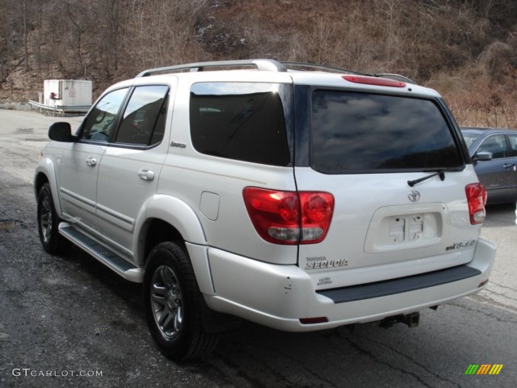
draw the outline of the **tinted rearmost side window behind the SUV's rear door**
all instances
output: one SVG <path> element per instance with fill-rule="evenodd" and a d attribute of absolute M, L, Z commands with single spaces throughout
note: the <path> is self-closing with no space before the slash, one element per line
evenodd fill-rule
<path fill-rule="evenodd" d="M 288 86 L 210 82 L 192 85 L 190 132 L 197 152 L 272 166 L 287 166 L 284 103 Z"/>

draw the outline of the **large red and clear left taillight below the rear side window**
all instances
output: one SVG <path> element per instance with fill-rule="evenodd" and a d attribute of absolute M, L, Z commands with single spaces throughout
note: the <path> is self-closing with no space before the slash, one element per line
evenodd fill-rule
<path fill-rule="evenodd" d="M 242 196 L 255 230 L 270 243 L 315 244 L 327 235 L 334 211 L 328 192 L 247 187 Z"/>

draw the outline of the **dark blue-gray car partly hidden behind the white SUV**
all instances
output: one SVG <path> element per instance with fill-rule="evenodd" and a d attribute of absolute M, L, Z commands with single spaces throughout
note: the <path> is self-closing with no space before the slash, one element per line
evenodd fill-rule
<path fill-rule="evenodd" d="M 461 128 L 488 203 L 517 201 L 517 131 L 500 128 Z"/>

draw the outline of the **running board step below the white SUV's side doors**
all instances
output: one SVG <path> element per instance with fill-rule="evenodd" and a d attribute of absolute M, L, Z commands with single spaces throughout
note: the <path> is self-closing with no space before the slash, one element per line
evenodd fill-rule
<path fill-rule="evenodd" d="M 59 224 L 59 233 L 123 278 L 136 283 L 143 281 L 143 268 L 139 268 L 127 262 L 111 249 L 108 249 L 93 238 L 73 228 L 69 223 L 61 222 Z"/>

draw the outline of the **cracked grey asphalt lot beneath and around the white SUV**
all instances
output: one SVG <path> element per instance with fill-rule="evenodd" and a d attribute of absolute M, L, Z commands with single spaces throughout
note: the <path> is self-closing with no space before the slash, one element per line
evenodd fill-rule
<path fill-rule="evenodd" d="M 498 253 L 486 289 L 422 311 L 418 327 L 298 334 L 245 323 L 207 359 L 175 364 L 147 332 L 139 285 L 79 250 L 40 247 L 32 174 L 49 124 L 62 120 L 0 110 L 0 387 L 515 386 L 515 206 L 488 209 L 482 235 Z M 504 366 L 465 375 L 470 364 Z"/>

